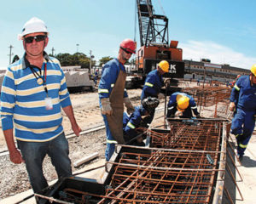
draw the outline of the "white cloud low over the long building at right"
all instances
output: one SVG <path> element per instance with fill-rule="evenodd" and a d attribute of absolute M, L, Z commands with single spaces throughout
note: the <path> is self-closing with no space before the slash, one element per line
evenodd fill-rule
<path fill-rule="evenodd" d="M 250 69 L 256 62 L 256 58 L 247 57 L 245 54 L 211 41 L 190 40 L 187 43 L 180 43 L 179 47 L 183 49 L 183 59 L 200 61 L 206 58 L 211 59 L 212 63 L 229 64 L 244 69 Z"/>

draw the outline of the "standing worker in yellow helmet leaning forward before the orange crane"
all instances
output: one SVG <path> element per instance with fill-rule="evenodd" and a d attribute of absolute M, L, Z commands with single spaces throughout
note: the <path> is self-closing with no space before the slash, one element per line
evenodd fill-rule
<path fill-rule="evenodd" d="M 143 93 L 141 95 L 141 101 L 143 99 L 150 97 L 158 98 L 158 94 L 160 94 L 160 88 L 162 88 L 165 83 L 163 81 L 162 75 L 169 71 L 169 63 L 166 60 L 160 61 L 157 65 L 157 68 L 154 71 L 150 71 L 148 76 L 145 79 L 145 83 L 143 86 Z M 150 116 L 145 119 L 150 124 L 154 119 L 154 111 L 150 113 Z"/>

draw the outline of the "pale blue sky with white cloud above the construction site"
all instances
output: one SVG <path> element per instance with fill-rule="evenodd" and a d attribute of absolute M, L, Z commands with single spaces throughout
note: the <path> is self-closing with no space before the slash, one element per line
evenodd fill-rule
<path fill-rule="evenodd" d="M 152 0 L 155 14 L 169 19 L 169 41 L 178 41 L 183 59 L 250 69 L 256 63 L 255 0 Z M 140 46 L 136 0 L 9 0 L 1 3 L 0 69 L 24 54 L 18 34 L 32 17 L 49 31 L 45 51 L 77 51 L 88 56 L 116 57 L 119 43 L 135 39 Z"/>

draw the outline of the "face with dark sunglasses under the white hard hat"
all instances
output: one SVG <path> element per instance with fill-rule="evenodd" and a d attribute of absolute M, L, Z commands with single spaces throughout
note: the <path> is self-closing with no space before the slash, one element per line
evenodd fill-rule
<path fill-rule="evenodd" d="M 35 32 L 27 34 L 24 37 L 23 47 L 26 50 L 27 55 L 39 56 L 43 54 L 44 48 L 48 43 L 48 37 L 44 37 L 45 35 L 46 34 L 44 32 Z M 32 37 L 34 37 L 34 39 L 32 39 Z"/>

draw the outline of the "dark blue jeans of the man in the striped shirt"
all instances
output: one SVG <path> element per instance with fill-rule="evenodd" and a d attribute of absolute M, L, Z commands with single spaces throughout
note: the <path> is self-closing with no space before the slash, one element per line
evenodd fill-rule
<path fill-rule="evenodd" d="M 35 193 L 48 186 L 43 173 L 44 157 L 48 155 L 54 165 L 58 178 L 72 175 L 71 161 L 68 157 L 68 143 L 64 133 L 46 142 L 26 142 L 17 140 L 22 157 L 25 160 L 26 171 Z"/>

